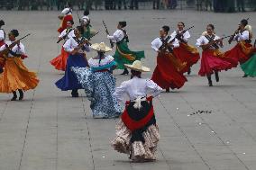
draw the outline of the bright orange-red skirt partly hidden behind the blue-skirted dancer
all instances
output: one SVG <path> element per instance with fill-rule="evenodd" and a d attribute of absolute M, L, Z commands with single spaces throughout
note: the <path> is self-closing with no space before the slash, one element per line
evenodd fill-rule
<path fill-rule="evenodd" d="M 50 64 L 54 66 L 56 69 L 65 71 L 67 66 L 67 59 L 69 58 L 69 53 L 66 52 L 63 47 L 61 48 L 61 53 L 57 58 L 53 58 L 50 61 Z"/>

